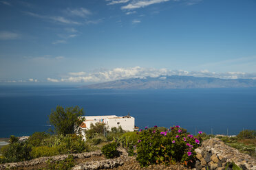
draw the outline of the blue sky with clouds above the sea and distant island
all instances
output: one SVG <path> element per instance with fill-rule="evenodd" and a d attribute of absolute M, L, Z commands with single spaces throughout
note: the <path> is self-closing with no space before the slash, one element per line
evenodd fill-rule
<path fill-rule="evenodd" d="M 0 0 L 0 82 L 256 79 L 254 0 Z"/>

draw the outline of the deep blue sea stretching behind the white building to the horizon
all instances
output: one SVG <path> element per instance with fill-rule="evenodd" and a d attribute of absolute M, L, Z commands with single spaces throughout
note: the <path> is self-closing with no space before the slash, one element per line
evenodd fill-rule
<path fill-rule="evenodd" d="M 256 88 L 87 90 L 65 86 L 0 86 L 0 137 L 49 128 L 60 106 L 79 106 L 85 115 L 127 115 L 136 125 L 180 125 L 191 133 L 238 134 L 256 129 Z"/>

